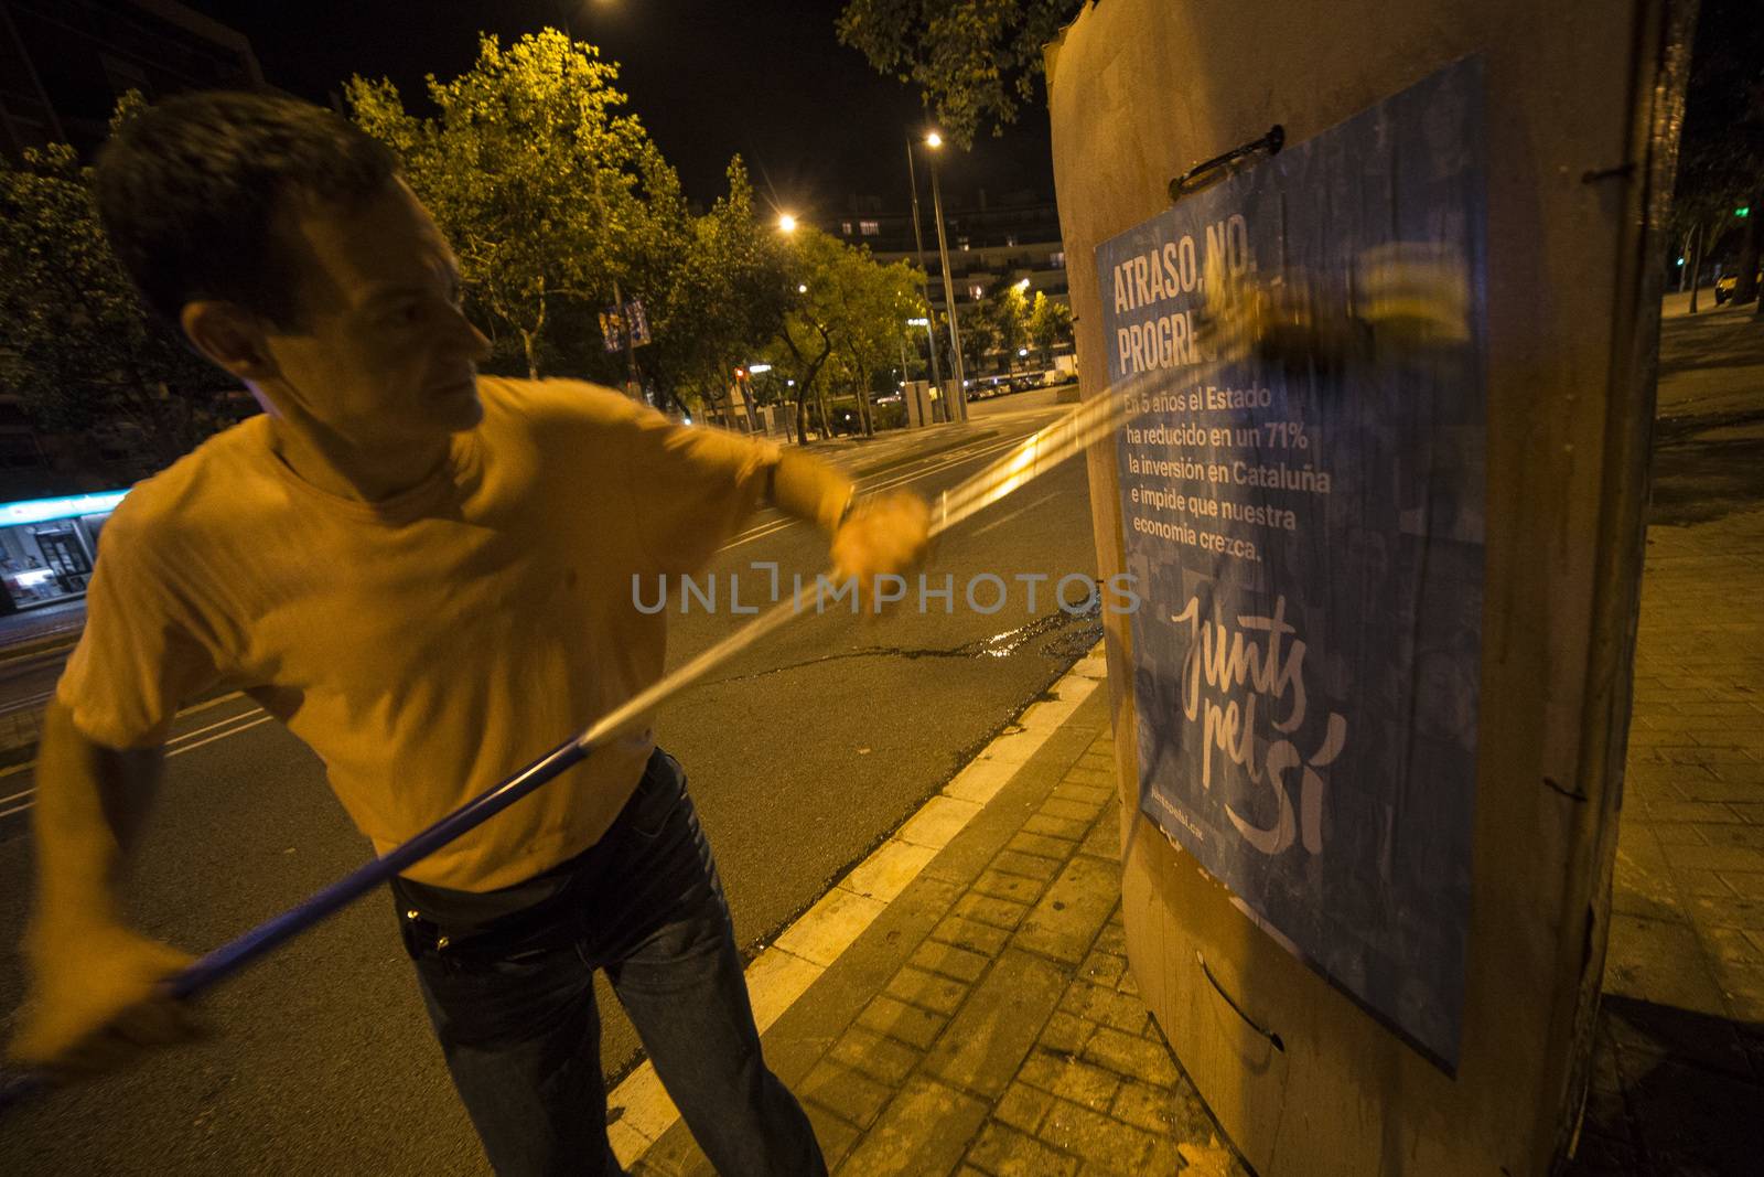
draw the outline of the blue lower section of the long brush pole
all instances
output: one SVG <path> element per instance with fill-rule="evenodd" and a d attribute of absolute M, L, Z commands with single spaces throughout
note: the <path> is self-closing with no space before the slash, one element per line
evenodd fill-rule
<path fill-rule="evenodd" d="M 222 944 L 189 969 L 171 976 L 166 981 L 166 992 L 178 999 L 194 997 L 215 981 L 238 972 L 263 953 L 291 941 L 326 916 L 337 914 L 406 866 L 429 858 L 453 838 L 490 821 L 564 769 L 580 764 L 589 748 L 591 745 L 582 743 L 580 736 L 572 736 L 513 776 L 478 794 L 434 826 L 429 826 L 429 829 L 423 829 L 404 845 L 370 863 L 363 863 L 328 888 L 314 891 L 280 916 L 265 919 L 250 932 Z M 46 1085 L 48 1080 L 39 1071 L 0 1071 L 0 1112 L 9 1110 L 21 1099 L 28 1099 Z"/>

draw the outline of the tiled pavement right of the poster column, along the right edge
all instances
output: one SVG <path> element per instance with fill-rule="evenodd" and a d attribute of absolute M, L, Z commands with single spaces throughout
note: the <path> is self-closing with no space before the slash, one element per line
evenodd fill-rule
<path fill-rule="evenodd" d="M 1603 1011 L 1573 1173 L 1764 1172 L 1760 602 L 1764 510 L 1649 529 Z"/>

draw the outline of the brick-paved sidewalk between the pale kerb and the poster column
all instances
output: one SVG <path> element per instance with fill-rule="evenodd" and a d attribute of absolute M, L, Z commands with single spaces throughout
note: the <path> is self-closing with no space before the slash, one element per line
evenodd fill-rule
<path fill-rule="evenodd" d="M 766 1032 L 840 1177 L 1247 1172 L 1136 995 L 1101 660 L 1080 674 L 1071 716 Z M 901 833 L 921 821 L 944 819 Z M 711 1172 L 677 1122 L 632 1168 Z"/>

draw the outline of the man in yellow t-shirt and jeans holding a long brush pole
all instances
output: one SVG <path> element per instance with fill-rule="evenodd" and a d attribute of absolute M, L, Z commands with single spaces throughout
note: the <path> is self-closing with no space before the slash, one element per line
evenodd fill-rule
<path fill-rule="evenodd" d="M 926 510 L 801 454 L 610 392 L 478 378 L 453 254 L 390 154 L 335 115 L 192 95 L 99 164 L 146 302 L 265 408 L 136 487 L 44 722 L 32 1004 L 14 1059 L 78 1073 L 183 1032 L 189 958 L 127 930 L 115 875 L 182 701 L 245 688 L 386 851 L 662 674 L 639 579 L 702 566 L 760 503 L 841 574 L 923 556 Z M 826 1172 L 760 1057 L 679 766 L 642 727 L 393 884 L 430 1020 L 503 1173 L 619 1172 L 593 971 L 706 1154 Z"/>

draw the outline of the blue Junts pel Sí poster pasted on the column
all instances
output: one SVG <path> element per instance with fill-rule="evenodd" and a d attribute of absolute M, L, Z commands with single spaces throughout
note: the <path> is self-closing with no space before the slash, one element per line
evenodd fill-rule
<path fill-rule="evenodd" d="M 1110 381 L 1141 401 L 1117 438 L 1141 808 L 1448 1071 L 1482 660 L 1482 92 L 1457 62 L 1095 254 Z M 1464 339 L 1208 364 L 1208 263 L 1365 314 L 1416 254 L 1462 281 Z"/>

